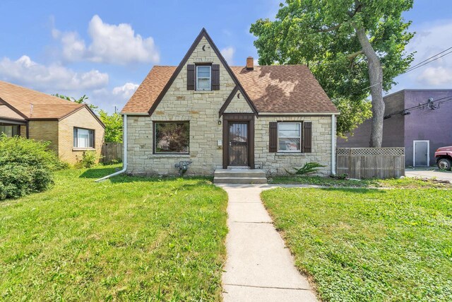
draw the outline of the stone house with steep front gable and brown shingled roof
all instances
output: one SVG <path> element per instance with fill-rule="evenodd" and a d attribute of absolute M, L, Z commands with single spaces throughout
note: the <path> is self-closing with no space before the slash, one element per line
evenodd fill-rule
<path fill-rule="evenodd" d="M 206 30 L 179 66 L 154 66 L 121 111 L 126 171 L 212 175 L 227 167 L 266 173 L 315 161 L 334 171 L 338 110 L 307 66 L 229 66 Z"/>

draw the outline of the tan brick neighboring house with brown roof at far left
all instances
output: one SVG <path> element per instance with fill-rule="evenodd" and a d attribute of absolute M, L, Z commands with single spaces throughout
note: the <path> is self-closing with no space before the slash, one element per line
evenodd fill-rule
<path fill-rule="evenodd" d="M 105 126 L 86 104 L 0 81 L 0 132 L 50 141 L 62 161 L 76 163 L 83 151 L 100 154 Z"/>

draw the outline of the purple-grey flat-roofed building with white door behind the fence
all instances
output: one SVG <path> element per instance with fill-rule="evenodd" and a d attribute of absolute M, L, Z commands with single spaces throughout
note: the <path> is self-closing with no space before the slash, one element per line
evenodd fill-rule
<path fill-rule="evenodd" d="M 452 145 L 452 89 L 405 89 L 384 98 L 383 147 L 405 147 L 405 165 L 435 165 L 434 153 Z M 371 121 L 338 147 L 368 147 Z"/>

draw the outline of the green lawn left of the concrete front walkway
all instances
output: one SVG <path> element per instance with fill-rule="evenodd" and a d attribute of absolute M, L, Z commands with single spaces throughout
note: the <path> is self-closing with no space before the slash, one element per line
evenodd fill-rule
<path fill-rule="evenodd" d="M 212 301 L 221 296 L 227 194 L 205 178 L 64 170 L 0 202 L 0 300 Z"/>

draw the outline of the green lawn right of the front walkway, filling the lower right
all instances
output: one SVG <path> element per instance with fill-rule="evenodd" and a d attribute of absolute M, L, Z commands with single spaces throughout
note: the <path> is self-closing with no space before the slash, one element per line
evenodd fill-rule
<path fill-rule="evenodd" d="M 452 190 L 279 188 L 262 198 L 324 301 L 451 301 Z"/>

